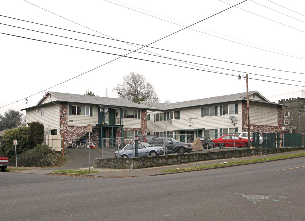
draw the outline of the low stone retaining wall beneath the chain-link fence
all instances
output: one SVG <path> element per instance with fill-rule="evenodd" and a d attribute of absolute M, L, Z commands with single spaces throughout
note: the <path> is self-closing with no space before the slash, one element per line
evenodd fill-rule
<path fill-rule="evenodd" d="M 95 159 L 95 168 L 112 169 L 141 169 L 147 167 L 158 167 L 166 165 L 177 165 L 183 163 L 192 163 L 196 161 L 208 161 L 216 159 L 226 159 L 234 157 L 247 157 L 253 155 L 267 155 L 273 153 L 284 153 L 295 150 L 303 150 L 305 147 L 292 148 L 255 148 L 255 149 L 237 149 L 224 151 L 211 151 L 204 153 L 188 153 L 174 155 L 160 155 L 155 157 L 133 157 L 133 158 L 106 158 Z"/>

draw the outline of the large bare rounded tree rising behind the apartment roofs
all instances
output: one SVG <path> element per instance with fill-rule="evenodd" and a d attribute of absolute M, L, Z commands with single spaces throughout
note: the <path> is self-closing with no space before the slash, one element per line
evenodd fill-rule
<path fill-rule="evenodd" d="M 133 101 L 149 101 L 160 102 L 158 94 L 151 83 L 146 82 L 144 75 L 135 72 L 130 72 L 129 75 L 123 77 L 123 83 L 118 83 L 113 89 L 116 91 L 119 98 Z"/>

